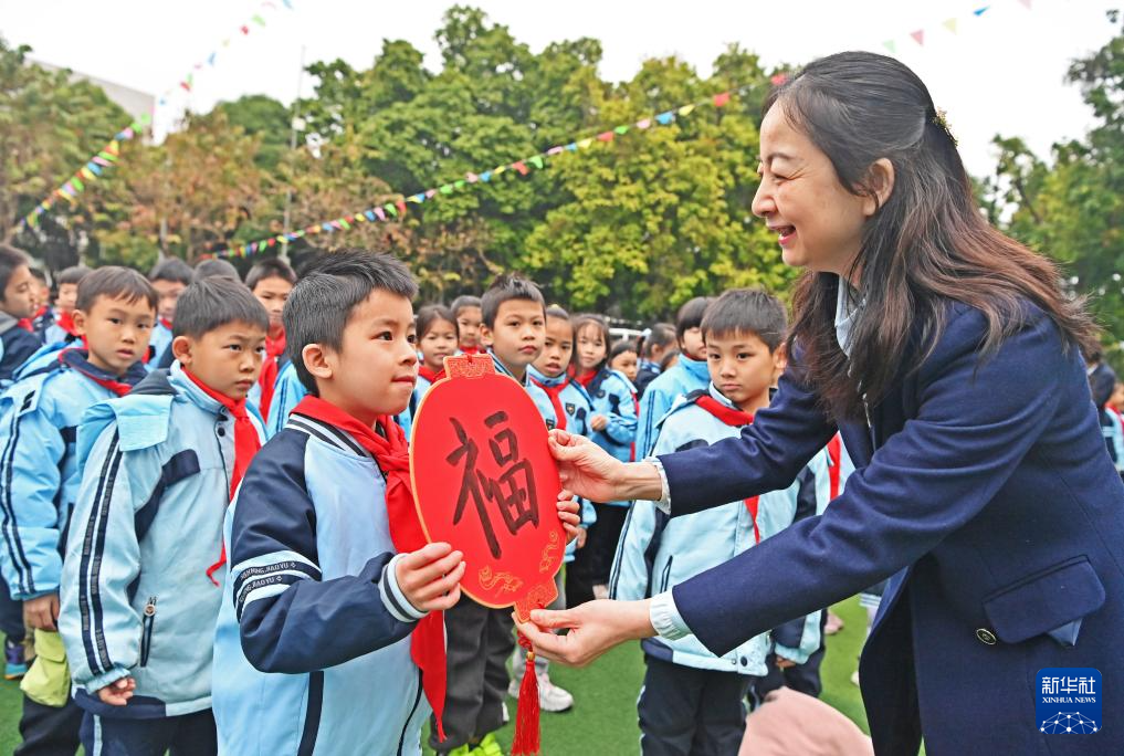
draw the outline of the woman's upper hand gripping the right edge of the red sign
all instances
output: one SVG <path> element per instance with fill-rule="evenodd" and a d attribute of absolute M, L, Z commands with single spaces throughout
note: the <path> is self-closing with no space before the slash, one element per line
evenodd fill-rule
<path fill-rule="evenodd" d="M 653 465 L 626 465 L 583 436 L 555 429 L 550 447 L 562 486 L 590 501 L 658 500 L 663 491 Z"/>

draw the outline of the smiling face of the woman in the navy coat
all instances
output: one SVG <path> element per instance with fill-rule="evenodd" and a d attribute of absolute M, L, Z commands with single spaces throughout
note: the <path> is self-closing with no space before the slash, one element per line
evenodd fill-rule
<path fill-rule="evenodd" d="M 792 126 L 780 102 L 761 124 L 758 173 L 753 215 L 778 234 L 785 263 L 845 275 L 877 202 L 840 183 L 831 160 Z"/>

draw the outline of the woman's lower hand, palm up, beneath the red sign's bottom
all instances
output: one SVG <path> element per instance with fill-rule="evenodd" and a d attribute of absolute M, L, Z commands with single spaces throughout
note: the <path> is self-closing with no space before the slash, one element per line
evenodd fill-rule
<path fill-rule="evenodd" d="M 562 611 L 536 609 L 531 612 L 529 622 L 522 623 L 516 618 L 515 623 L 534 645 L 536 654 L 582 667 L 618 644 L 654 636 L 649 603 L 650 600 L 598 600 Z M 561 636 L 551 632 L 562 628 L 570 631 Z"/>

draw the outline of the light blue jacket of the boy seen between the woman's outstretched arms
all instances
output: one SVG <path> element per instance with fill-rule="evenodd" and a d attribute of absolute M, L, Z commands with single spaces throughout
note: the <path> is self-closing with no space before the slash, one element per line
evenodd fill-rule
<path fill-rule="evenodd" d="M 670 454 L 708 446 L 724 438 L 736 438 L 741 427 L 728 426 L 696 402 L 710 395 L 733 407 L 714 384 L 694 392 L 664 418 L 655 441 L 656 454 Z M 794 521 L 823 511 L 830 495 L 827 454 L 813 457 L 796 481 L 782 491 L 761 494 L 758 501 L 758 530 L 761 540 L 774 536 Z M 654 502 L 636 501 L 625 519 L 617 546 L 609 596 L 619 600 L 656 595 L 695 575 L 723 564 L 755 545 L 753 518 L 744 501 L 704 512 L 669 518 Z M 769 575 L 759 575 L 768 581 Z M 816 611 L 774 628 L 771 634 L 754 636 L 732 650 L 717 656 L 695 637 L 678 640 L 661 637 L 642 641 L 645 654 L 699 670 L 735 672 L 746 675 L 768 673 L 770 650 L 803 664 L 819 648 L 819 618 Z"/>

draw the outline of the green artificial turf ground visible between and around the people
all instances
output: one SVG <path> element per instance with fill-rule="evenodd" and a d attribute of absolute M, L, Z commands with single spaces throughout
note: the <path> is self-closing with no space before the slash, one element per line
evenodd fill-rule
<path fill-rule="evenodd" d="M 846 627 L 827 639 L 822 698 L 867 730 L 859 689 L 851 683 L 865 632 L 865 611 L 856 599 L 844 601 L 834 610 Z M 574 708 L 560 714 L 543 713 L 543 753 L 550 756 L 638 753 L 636 695 L 643 677 L 644 662 L 637 644 L 615 648 L 582 670 L 552 665 L 551 680 L 573 693 Z M 508 701 L 508 707 L 514 714 L 515 702 Z M 10 754 L 19 744 L 20 709 L 19 684 L 0 681 L 0 753 Z M 513 729 L 508 725 L 499 732 L 505 749 L 511 744 Z"/>

